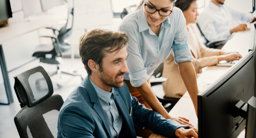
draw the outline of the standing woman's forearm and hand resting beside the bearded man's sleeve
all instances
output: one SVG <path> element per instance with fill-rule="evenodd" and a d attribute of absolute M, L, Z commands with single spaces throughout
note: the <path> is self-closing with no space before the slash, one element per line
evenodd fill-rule
<path fill-rule="evenodd" d="M 162 104 L 159 102 L 156 95 L 154 95 L 154 92 L 152 91 L 151 87 L 147 82 L 142 84 L 140 87 L 136 87 L 136 88 L 138 89 L 138 91 L 140 92 L 141 96 L 144 98 L 146 103 L 152 108 L 152 110 L 158 112 L 166 119 L 172 119 L 182 125 L 188 125 L 190 128 L 193 128 L 193 125 L 188 122 L 189 121 L 188 119 L 170 116 L 168 112 L 165 110 L 165 108 L 162 106 Z"/>

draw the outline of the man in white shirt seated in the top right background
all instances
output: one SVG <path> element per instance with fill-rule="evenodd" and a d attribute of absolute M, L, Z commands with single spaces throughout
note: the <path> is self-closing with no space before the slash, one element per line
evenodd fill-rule
<path fill-rule="evenodd" d="M 255 21 L 251 13 L 233 10 L 224 2 L 225 0 L 210 1 L 198 18 L 198 25 L 210 42 L 226 40 L 219 43 L 221 46 L 232 38 L 233 33 L 246 30 L 246 22 L 253 23 Z"/>

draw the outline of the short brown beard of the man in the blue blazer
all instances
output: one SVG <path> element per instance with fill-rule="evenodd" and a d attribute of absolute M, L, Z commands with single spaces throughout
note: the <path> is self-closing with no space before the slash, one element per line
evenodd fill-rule
<path fill-rule="evenodd" d="M 120 72 L 118 73 L 116 77 L 118 76 L 123 76 L 123 74 L 125 74 L 124 72 Z M 120 88 L 123 87 L 123 81 L 117 81 L 116 79 L 112 79 L 112 77 L 106 73 L 104 73 L 104 71 L 102 70 L 102 72 L 100 72 L 100 80 L 103 82 L 103 84 L 105 86 L 110 86 L 110 87 L 115 87 L 115 88 Z"/>

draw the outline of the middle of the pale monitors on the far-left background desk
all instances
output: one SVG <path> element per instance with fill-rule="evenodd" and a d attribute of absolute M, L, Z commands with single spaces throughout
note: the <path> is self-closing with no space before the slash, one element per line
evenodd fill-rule
<path fill-rule="evenodd" d="M 42 12 L 40 0 L 21 0 L 21 3 L 25 18 Z"/>

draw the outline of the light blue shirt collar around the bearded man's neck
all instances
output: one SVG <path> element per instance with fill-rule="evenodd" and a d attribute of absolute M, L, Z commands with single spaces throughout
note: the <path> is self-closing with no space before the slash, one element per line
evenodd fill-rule
<path fill-rule="evenodd" d="M 89 77 L 90 81 L 91 78 Z M 114 95 L 114 90 L 113 88 L 111 89 L 111 92 L 107 92 L 101 88 L 99 88 L 97 85 L 95 85 L 92 81 L 91 81 L 92 86 L 94 87 L 98 97 L 102 100 L 104 100 L 105 102 L 109 103 L 110 98 L 112 97 L 113 100 L 115 100 L 115 95 Z"/>

